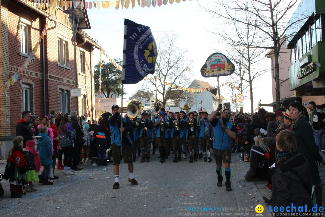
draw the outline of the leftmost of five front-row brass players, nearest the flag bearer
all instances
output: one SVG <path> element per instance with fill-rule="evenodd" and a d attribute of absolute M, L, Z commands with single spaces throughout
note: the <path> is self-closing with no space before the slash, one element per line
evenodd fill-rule
<path fill-rule="evenodd" d="M 150 148 L 151 148 L 151 137 L 152 137 L 152 121 L 149 119 L 147 112 L 142 113 L 143 119 L 139 120 L 139 136 L 140 136 L 140 148 L 142 159 L 141 163 L 149 162 Z M 147 152 L 147 153 L 146 153 Z M 147 155 L 146 155 L 147 154 Z"/>

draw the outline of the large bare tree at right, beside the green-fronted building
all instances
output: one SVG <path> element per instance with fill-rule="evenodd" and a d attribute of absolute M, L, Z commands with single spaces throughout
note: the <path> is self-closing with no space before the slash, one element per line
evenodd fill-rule
<path fill-rule="evenodd" d="M 306 16 L 301 14 L 299 17 L 292 17 L 291 10 L 300 0 L 248 0 L 248 1 L 216 1 L 216 10 L 209 7 L 203 7 L 204 10 L 209 11 L 214 17 L 222 18 L 227 22 L 239 22 L 243 25 L 253 27 L 258 30 L 259 33 L 263 33 L 262 38 L 265 40 L 260 45 L 253 44 L 252 47 L 266 48 L 274 50 L 275 61 L 275 96 L 276 106 L 280 107 L 280 83 L 279 83 L 279 53 L 280 47 L 285 43 L 285 39 L 291 37 L 293 34 L 286 35 L 289 28 L 292 28 L 297 23 L 303 21 Z M 249 17 L 253 18 L 254 22 L 242 19 L 242 17 L 236 16 L 236 14 L 245 13 Z M 260 40 L 261 37 L 255 38 Z M 240 42 L 240 44 L 246 44 Z"/>

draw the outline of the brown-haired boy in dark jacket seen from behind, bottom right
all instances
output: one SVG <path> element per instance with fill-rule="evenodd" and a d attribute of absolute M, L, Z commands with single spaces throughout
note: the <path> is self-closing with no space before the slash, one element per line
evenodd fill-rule
<path fill-rule="evenodd" d="M 290 207 L 290 212 L 298 213 L 298 207 L 307 206 L 303 212 L 311 210 L 313 202 L 311 199 L 312 180 L 307 159 L 297 153 L 298 141 L 294 132 L 285 129 L 278 133 L 277 166 L 270 168 L 272 177 L 272 208 Z M 313 162 L 311 162 L 313 163 Z M 291 207 L 295 206 L 296 210 Z"/>

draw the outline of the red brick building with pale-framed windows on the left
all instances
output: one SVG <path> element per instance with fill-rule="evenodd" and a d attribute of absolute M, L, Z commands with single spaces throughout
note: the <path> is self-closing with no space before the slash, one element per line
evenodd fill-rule
<path fill-rule="evenodd" d="M 15 136 L 16 122 L 25 110 L 40 120 L 50 111 L 68 113 L 76 110 L 75 97 L 70 89 L 81 88 L 78 113 L 95 119 L 93 50 L 100 46 L 82 29 L 90 29 L 84 10 L 76 34 L 77 78 L 74 71 L 72 15 L 60 8 L 39 9 L 36 4 L 17 1 L 0 2 L 0 82 L 4 84 L 25 62 L 38 42 L 47 20 L 52 17 L 47 33 L 28 69 L 17 82 L 4 91 L 0 89 L 0 141 L 2 156 L 6 156 Z"/>

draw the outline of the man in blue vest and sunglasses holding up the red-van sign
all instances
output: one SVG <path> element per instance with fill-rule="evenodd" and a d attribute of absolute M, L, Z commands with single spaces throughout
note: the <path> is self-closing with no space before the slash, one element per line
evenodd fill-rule
<path fill-rule="evenodd" d="M 237 136 L 237 130 L 235 125 L 229 121 L 230 109 L 224 109 L 221 114 L 221 119 L 215 118 L 215 115 L 222 109 L 222 104 L 219 104 L 217 110 L 211 113 L 208 120 L 213 126 L 213 153 L 218 176 L 217 186 L 222 186 L 222 162 L 225 167 L 226 176 L 226 191 L 231 191 L 230 186 L 230 163 L 231 163 L 231 149 L 230 143 L 231 139 L 235 139 Z"/>

